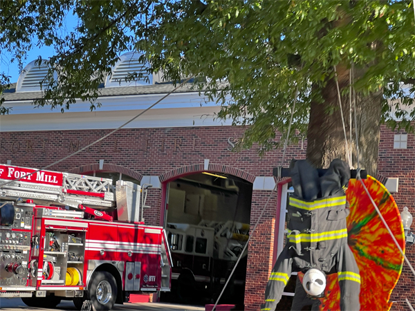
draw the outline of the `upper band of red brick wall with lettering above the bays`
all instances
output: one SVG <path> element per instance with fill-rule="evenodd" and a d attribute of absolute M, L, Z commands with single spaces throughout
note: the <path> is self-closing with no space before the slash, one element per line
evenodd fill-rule
<path fill-rule="evenodd" d="M 12 160 L 15 165 L 45 167 L 107 133 L 109 130 L 2 132 L 0 161 Z M 237 167 L 254 176 L 270 176 L 272 168 L 279 164 L 282 152 L 269 152 L 260 158 L 256 147 L 241 153 L 228 151 L 228 138 L 237 138 L 242 133 L 243 129 L 232 126 L 122 129 L 50 169 L 70 171 L 98 164 L 100 159 L 104 159 L 104 164 L 116 164 L 143 176 L 159 176 L 210 159 L 211 164 Z M 286 165 L 292 157 L 304 157 L 300 146 L 297 144 L 288 149 Z"/>

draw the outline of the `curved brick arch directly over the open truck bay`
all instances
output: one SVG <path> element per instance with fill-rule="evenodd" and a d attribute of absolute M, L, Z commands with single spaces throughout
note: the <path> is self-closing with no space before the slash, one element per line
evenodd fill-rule
<path fill-rule="evenodd" d="M 179 167 L 178 169 L 167 171 L 166 173 L 160 175 L 159 178 L 160 178 L 160 182 L 167 182 L 169 180 L 177 178 L 178 176 L 190 175 L 193 173 L 199 173 L 201 171 L 212 171 L 214 173 L 227 173 L 227 174 L 242 178 L 243 180 L 246 180 L 252 183 L 255 180 L 254 175 L 247 173 L 246 171 L 243 171 L 241 169 L 237 169 L 235 167 L 229 167 L 228 165 L 211 164 L 211 163 L 208 165 L 208 169 L 205 169 L 205 165 L 203 163 Z"/>

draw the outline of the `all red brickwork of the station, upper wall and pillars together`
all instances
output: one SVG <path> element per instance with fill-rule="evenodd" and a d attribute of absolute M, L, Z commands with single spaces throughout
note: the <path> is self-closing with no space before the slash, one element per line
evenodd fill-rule
<path fill-rule="evenodd" d="M 0 163 L 12 160 L 13 165 L 41 168 L 60 160 L 89 142 L 101 138 L 109 130 L 96 131 L 36 131 L 24 133 L 0 133 Z M 280 164 L 282 151 L 268 152 L 264 158 L 254 147 L 249 151 L 228 151 L 228 138 L 237 138 L 243 129 L 231 126 L 123 129 L 106 138 L 89 150 L 50 167 L 56 171 L 81 173 L 96 169 L 104 159 L 104 169 L 120 171 L 138 180 L 142 176 L 161 176 L 161 180 L 174 178 L 182 173 L 203 168 L 205 159 L 218 171 L 234 173 L 252 182 L 252 176 L 271 176 L 273 167 Z M 379 149 L 379 173 L 385 177 L 398 177 L 399 192 L 394 194 L 400 210 L 407 206 L 415 216 L 415 138 L 408 135 L 408 149 L 393 149 L 394 133 L 382 127 Z M 306 144 L 304 144 L 304 149 Z M 305 158 L 301 143 L 288 148 L 284 166 L 291 158 Z M 83 167 L 82 169 L 80 169 Z M 93 170 L 92 169 L 92 170 Z M 253 191 L 251 225 L 255 225 L 271 191 Z M 258 310 L 264 297 L 264 288 L 273 259 L 274 229 L 277 194 L 267 205 L 266 212 L 253 234 L 248 249 L 246 283 L 246 309 Z M 146 223 L 159 225 L 162 191 L 149 189 L 145 209 Z M 412 225 L 415 232 L 415 224 Z M 409 261 L 415 265 L 415 245 L 407 248 Z M 414 303 L 415 277 L 404 265 L 392 299 L 407 297 Z M 405 304 L 395 303 L 392 310 L 407 310 Z"/>

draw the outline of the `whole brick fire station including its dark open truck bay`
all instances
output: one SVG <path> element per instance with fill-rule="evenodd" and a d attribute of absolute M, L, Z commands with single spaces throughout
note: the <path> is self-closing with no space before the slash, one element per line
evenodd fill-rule
<path fill-rule="evenodd" d="M 113 185 L 124 180 L 147 189 L 145 224 L 166 230 L 172 252 L 172 291 L 154 295 L 167 302 L 214 303 L 265 208 L 221 299 L 244 305 L 244 310 L 259 310 L 283 247 L 286 202 L 293 192 L 289 182 L 276 183 L 273 176 L 282 151 L 262 157 L 255 147 L 234 152 L 244 129 L 216 119 L 220 107 L 188 86 L 89 146 L 173 90 L 158 75 L 123 81 L 142 66 L 132 53 L 122 55 L 100 86 L 100 108 L 90 111 L 88 102 L 77 102 L 61 113 L 31 104 L 42 96 L 39 81 L 46 68 L 28 64 L 3 94 L 3 105 L 11 110 L 0 118 L 0 164 L 42 169 L 77 152 L 47 170 L 111 178 Z M 291 158 L 304 159 L 306 144 L 300 139 L 289 146 L 282 165 L 288 167 Z M 21 177 L 15 173 L 15 178 Z M 375 177 L 394 196 L 399 210 L 406 206 L 415 216 L 414 134 L 382 126 L 378 173 Z M 31 178 L 53 182 L 47 174 Z M 405 253 L 415 264 L 415 246 L 407 242 Z M 404 264 L 391 300 L 407 297 L 413 303 L 414 296 L 414 276 Z M 392 305 L 392 310 L 403 308 Z"/>

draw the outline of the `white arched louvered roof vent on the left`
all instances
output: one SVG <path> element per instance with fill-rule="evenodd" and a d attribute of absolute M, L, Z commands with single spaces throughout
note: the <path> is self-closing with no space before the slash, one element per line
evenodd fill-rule
<path fill-rule="evenodd" d="M 48 80 L 45 80 L 48 70 L 49 67 L 45 61 L 41 64 L 38 64 L 37 60 L 30 62 L 19 75 L 16 92 L 41 91 L 41 82 L 43 86 L 48 83 Z"/>

